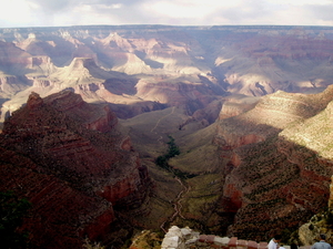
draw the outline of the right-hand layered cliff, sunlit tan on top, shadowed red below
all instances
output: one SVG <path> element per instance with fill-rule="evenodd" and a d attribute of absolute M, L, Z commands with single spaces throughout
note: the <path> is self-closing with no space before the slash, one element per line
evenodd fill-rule
<path fill-rule="evenodd" d="M 220 121 L 215 143 L 226 162 L 221 205 L 234 214 L 230 235 L 269 239 L 327 205 L 332 100 L 332 87 L 310 95 L 279 92 Z"/>

